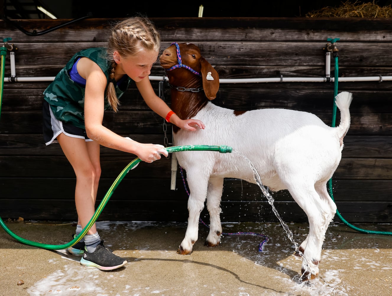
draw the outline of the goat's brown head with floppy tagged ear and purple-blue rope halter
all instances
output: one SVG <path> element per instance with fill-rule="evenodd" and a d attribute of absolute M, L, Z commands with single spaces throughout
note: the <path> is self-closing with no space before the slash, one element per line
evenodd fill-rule
<path fill-rule="evenodd" d="M 201 56 L 196 45 L 173 42 L 159 59 L 172 86 L 200 88 L 202 81 L 206 97 L 209 100 L 216 98 L 219 90 L 218 72 Z"/>

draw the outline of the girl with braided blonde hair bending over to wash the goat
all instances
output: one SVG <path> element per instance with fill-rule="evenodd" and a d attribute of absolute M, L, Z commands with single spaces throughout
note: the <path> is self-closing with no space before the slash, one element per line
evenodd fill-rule
<path fill-rule="evenodd" d="M 142 144 L 122 137 L 102 125 L 107 108 L 117 111 L 118 99 L 131 80 L 136 82 L 147 105 L 158 115 L 185 130 L 204 129 L 196 119 L 181 120 L 152 89 L 149 75 L 158 58 L 160 35 L 142 17 L 126 19 L 113 27 L 107 48 L 89 48 L 76 53 L 44 91 L 44 141 L 54 141 L 71 163 L 76 175 L 76 235 L 95 211 L 101 174 L 100 145 L 137 155 L 152 163 L 167 156 L 164 146 Z M 112 270 L 127 263 L 103 245 L 95 224 L 68 251 L 83 255 L 80 263 Z"/>

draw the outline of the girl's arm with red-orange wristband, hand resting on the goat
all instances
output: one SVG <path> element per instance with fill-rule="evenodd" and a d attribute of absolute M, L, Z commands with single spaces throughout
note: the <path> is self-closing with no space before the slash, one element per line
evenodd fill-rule
<path fill-rule="evenodd" d="M 155 94 L 154 90 L 152 89 L 149 78 L 145 77 L 140 82 L 136 82 L 136 86 L 138 87 L 140 94 L 142 95 L 146 104 L 151 108 L 151 110 L 160 115 L 161 117 L 166 118 L 167 113 L 169 113 L 171 109 L 162 99 L 160 99 L 160 97 Z M 182 120 L 176 114 L 173 114 L 170 117 L 170 122 L 175 124 L 179 128 L 189 131 L 195 131 L 195 126 L 199 126 L 199 128 L 201 129 L 205 128 L 204 123 L 198 119 Z"/>

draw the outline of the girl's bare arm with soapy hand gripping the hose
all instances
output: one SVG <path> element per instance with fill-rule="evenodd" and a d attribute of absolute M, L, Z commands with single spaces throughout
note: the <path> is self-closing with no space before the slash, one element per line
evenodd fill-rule
<path fill-rule="evenodd" d="M 167 156 L 167 151 L 162 145 L 130 141 L 103 126 L 104 96 L 107 84 L 105 74 L 89 58 L 80 59 L 78 72 L 86 79 L 84 119 L 86 133 L 90 139 L 105 147 L 133 153 L 148 163 L 160 159 L 160 154 Z"/>

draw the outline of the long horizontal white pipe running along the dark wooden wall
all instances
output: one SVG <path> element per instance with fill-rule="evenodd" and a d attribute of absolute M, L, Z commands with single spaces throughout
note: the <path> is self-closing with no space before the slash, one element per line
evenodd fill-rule
<path fill-rule="evenodd" d="M 149 76 L 150 80 L 168 80 L 166 76 Z M 5 77 L 4 82 L 31 82 L 53 81 L 54 77 Z M 385 81 L 392 80 L 392 76 L 369 76 L 369 77 L 339 77 L 339 82 L 353 81 Z M 220 83 L 255 83 L 255 82 L 326 82 L 326 77 L 272 77 L 272 78 L 243 78 L 243 79 L 219 79 Z M 331 82 L 335 81 L 331 77 Z"/>

